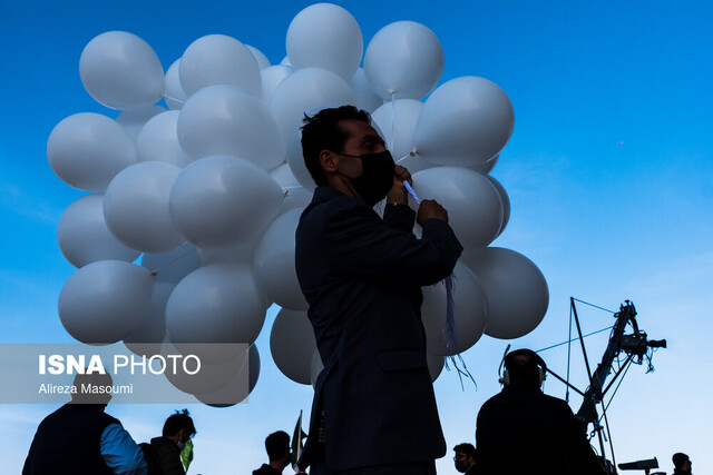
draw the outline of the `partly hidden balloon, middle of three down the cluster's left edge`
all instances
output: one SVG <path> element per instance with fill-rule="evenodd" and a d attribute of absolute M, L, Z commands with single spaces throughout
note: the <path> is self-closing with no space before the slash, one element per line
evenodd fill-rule
<path fill-rule="evenodd" d="M 140 253 L 114 237 L 104 220 L 104 194 L 86 195 L 62 212 L 57 226 L 57 241 L 75 267 L 96 260 L 135 260 Z"/>

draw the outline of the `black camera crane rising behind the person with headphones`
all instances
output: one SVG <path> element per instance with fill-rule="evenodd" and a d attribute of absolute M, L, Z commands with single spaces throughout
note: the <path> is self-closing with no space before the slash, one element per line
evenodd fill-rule
<path fill-rule="evenodd" d="M 666 340 L 649 340 L 645 331 L 638 328 L 638 324 L 636 321 L 636 308 L 634 304 L 629 300 L 625 300 L 623 305 L 619 306 L 619 311 L 614 314 L 614 318 L 616 321 L 612 327 L 612 334 L 609 336 L 609 342 L 604 350 L 604 356 L 602 357 L 602 362 L 597 366 L 596 370 L 592 373 L 589 367 L 589 359 L 587 357 L 587 350 L 584 345 L 584 336 L 582 335 L 582 327 L 579 325 L 579 317 L 577 316 L 577 307 L 575 305 L 575 298 L 570 297 L 570 308 L 573 310 L 573 315 L 577 325 L 577 334 L 579 336 L 579 344 L 582 345 L 582 353 L 584 355 L 585 366 L 587 368 L 587 376 L 589 377 L 589 387 L 583 393 L 568 380 L 559 377 L 549 368 L 547 369 L 553 376 L 555 376 L 560 382 L 565 383 L 569 388 L 574 389 L 576 393 L 580 394 L 584 397 L 582 406 L 579 410 L 577 410 L 577 419 L 582 425 L 582 429 L 589 434 L 588 427 L 589 424 L 593 424 L 593 435 L 597 434 L 599 439 L 599 446 L 602 448 L 602 457 L 603 459 L 605 454 L 604 448 L 604 437 L 603 429 L 599 415 L 597 413 L 597 405 L 602 404 L 604 396 L 612 388 L 614 383 L 625 374 L 631 364 L 641 365 L 644 362 L 644 358 L 648 362 L 648 372 L 653 370 L 653 365 L 651 364 L 651 358 L 654 348 L 665 348 Z M 632 333 L 625 334 L 626 329 L 631 326 Z M 614 377 L 609 382 L 609 384 L 605 387 L 604 384 L 612 373 L 614 367 L 614 362 L 619 359 L 619 355 L 626 355 L 626 358 L 623 364 L 618 366 L 618 369 L 614 374 Z M 619 380 L 621 383 L 621 380 Z M 617 386 L 618 387 L 618 386 Z M 616 393 L 616 390 L 615 390 Z M 613 396 L 612 396 L 613 397 Z M 606 407 L 603 405 L 604 418 L 606 419 Z M 614 452 L 612 449 L 612 452 Z M 612 454 L 614 456 L 614 454 Z"/>

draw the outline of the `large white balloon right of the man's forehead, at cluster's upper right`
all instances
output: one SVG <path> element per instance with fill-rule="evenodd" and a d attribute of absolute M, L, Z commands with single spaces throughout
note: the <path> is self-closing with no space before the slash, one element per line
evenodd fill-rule
<path fill-rule="evenodd" d="M 515 127 L 507 95 L 485 78 L 452 79 L 423 105 L 416 127 L 416 149 L 440 165 L 467 167 L 495 157 Z"/>

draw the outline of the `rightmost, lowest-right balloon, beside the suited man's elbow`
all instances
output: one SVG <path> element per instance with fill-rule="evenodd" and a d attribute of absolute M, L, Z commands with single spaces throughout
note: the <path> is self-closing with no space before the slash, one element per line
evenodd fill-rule
<path fill-rule="evenodd" d="M 486 335 L 519 338 L 543 321 L 549 290 L 545 276 L 527 257 L 510 249 L 488 247 L 463 253 L 461 261 L 478 276 L 488 296 Z"/>

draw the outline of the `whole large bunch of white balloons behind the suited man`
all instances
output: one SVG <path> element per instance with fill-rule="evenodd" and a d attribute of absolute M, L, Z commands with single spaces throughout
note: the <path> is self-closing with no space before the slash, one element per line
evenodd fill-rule
<path fill-rule="evenodd" d="M 155 344 L 155 353 L 165 350 L 162 342 L 252 344 L 276 303 L 283 309 L 272 328 L 273 359 L 289 378 L 310 384 L 321 362 L 295 274 L 294 234 L 314 182 L 299 127 L 305 113 L 346 103 L 372 112 L 417 194 L 448 209 L 466 248 L 455 271 L 456 349 L 443 338 L 443 286 L 423 289 L 432 377 L 445 356 L 484 331 L 531 331 L 547 309 L 545 278 L 522 255 L 488 247 L 510 211 L 505 189 L 487 175 L 512 132 L 506 93 L 479 77 L 433 90 L 443 51 L 431 30 L 398 21 L 364 52 L 356 20 L 331 3 L 292 20 L 286 50 L 271 66 L 255 48 L 209 34 L 164 75 L 154 50 L 131 33 L 110 31 L 87 44 L 79 63 L 86 90 L 121 112 L 70 116 L 47 145 L 59 178 L 90 191 L 59 221 L 59 246 L 78 267 L 59 297 L 67 331 L 88 344 Z M 141 254 L 141 265 L 131 264 Z M 238 363 L 213 363 L 229 386 Z M 172 383 L 212 400 L 199 384 Z"/>

